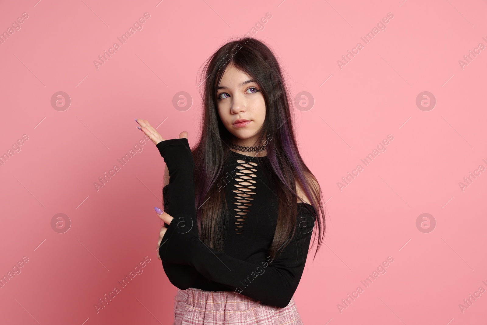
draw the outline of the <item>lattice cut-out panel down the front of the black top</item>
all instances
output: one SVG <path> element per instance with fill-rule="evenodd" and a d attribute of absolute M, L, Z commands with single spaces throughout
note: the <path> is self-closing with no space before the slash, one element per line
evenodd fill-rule
<path fill-rule="evenodd" d="M 235 172 L 235 182 L 233 184 L 234 189 L 232 190 L 235 194 L 234 198 L 236 199 L 233 204 L 235 204 L 235 233 L 241 235 L 244 232 L 244 225 L 246 225 L 246 221 L 248 218 L 248 212 L 250 212 L 250 207 L 252 206 L 252 200 L 254 199 L 252 196 L 256 195 L 255 190 L 257 187 L 255 186 L 257 181 L 257 166 L 258 164 L 252 161 L 245 161 L 242 159 L 237 159 L 237 165 Z"/>

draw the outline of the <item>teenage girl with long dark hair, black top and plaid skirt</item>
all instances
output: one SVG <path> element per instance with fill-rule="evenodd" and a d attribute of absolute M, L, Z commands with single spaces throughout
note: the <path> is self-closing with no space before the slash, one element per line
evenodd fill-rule
<path fill-rule="evenodd" d="M 166 140 L 136 119 L 166 163 L 164 211 L 154 209 L 165 223 L 158 258 L 178 287 L 174 325 L 302 324 L 293 295 L 325 212 L 279 63 L 263 42 L 240 38 L 210 57 L 203 79 L 192 150 L 187 132 Z"/>

